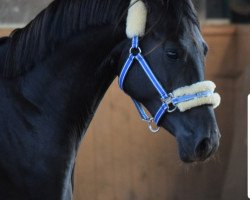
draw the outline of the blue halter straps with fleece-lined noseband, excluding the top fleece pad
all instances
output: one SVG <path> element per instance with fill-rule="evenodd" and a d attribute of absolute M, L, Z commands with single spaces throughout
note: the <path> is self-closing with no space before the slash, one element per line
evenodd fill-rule
<path fill-rule="evenodd" d="M 120 77 L 119 77 L 119 86 L 123 90 L 123 85 L 125 78 L 128 74 L 129 69 L 132 67 L 132 64 L 137 60 L 146 73 L 147 77 L 153 84 L 154 88 L 158 91 L 161 99 L 161 106 L 156 112 L 154 117 L 149 117 L 141 103 L 132 98 L 140 116 L 143 121 L 148 123 L 148 127 L 151 132 L 156 133 L 159 131 L 158 124 L 162 119 L 165 113 L 172 113 L 179 108 L 181 112 L 184 112 L 193 107 L 197 107 L 205 104 L 212 104 L 217 107 L 220 104 L 220 96 L 217 93 L 214 93 L 215 85 L 211 81 L 203 81 L 191 86 L 186 86 L 179 88 L 173 93 L 167 93 L 160 82 L 155 77 L 154 73 L 150 69 L 143 55 L 141 54 L 141 49 L 139 47 L 139 38 L 135 36 L 132 38 L 132 46 L 129 51 L 129 57 L 124 64 Z M 156 128 L 153 128 L 153 123 L 157 125 Z"/>

